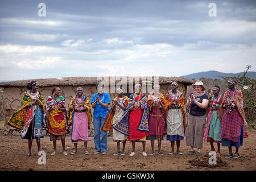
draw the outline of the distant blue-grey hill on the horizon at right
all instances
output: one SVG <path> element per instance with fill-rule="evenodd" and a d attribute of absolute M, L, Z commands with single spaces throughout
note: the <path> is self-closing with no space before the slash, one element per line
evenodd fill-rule
<path fill-rule="evenodd" d="M 199 80 L 201 77 L 212 78 L 212 79 L 216 78 L 216 79 L 222 80 L 222 78 L 220 78 L 218 76 L 226 76 L 226 77 L 236 76 L 237 77 L 239 75 L 240 75 L 240 77 L 242 77 L 243 72 L 241 72 L 241 73 L 222 73 L 222 72 L 217 72 L 217 71 L 208 71 L 208 72 L 193 73 L 190 75 L 184 75 L 184 76 L 180 76 L 180 77 L 189 78 L 189 79 L 194 78 L 195 80 Z M 256 72 L 247 72 L 246 77 L 256 79 Z"/>

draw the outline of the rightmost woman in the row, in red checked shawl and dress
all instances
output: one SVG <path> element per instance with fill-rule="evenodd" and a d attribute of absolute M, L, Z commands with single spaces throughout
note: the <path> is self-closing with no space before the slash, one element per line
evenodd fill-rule
<path fill-rule="evenodd" d="M 240 90 L 235 89 L 236 84 L 235 80 L 228 81 L 229 90 L 225 92 L 221 104 L 224 109 L 221 118 L 221 143 L 222 146 L 229 147 L 229 154 L 225 158 L 239 158 L 238 149 L 243 144 L 243 138 L 248 137 L 243 95 Z M 234 155 L 232 147 L 236 147 Z"/>

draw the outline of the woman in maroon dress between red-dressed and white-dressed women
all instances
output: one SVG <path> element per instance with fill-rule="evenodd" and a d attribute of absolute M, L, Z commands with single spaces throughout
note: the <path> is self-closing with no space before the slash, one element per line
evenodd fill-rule
<path fill-rule="evenodd" d="M 164 135 L 164 125 L 165 125 L 165 114 L 164 114 L 164 96 L 159 92 L 160 85 L 154 85 L 154 92 L 150 93 L 147 98 L 148 110 L 150 110 L 150 117 L 148 118 L 148 135 L 147 140 L 151 142 L 151 152 L 150 155 L 155 154 L 154 144 L 155 139 L 158 140 L 158 154 L 163 155 L 161 151 L 161 144 Z"/>

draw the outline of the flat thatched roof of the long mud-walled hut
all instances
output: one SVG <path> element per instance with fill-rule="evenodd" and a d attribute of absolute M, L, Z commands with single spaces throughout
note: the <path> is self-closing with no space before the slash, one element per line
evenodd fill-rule
<path fill-rule="evenodd" d="M 119 82 L 121 77 L 104 77 L 109 78 L 109 83 L 111 83 L 110 80 L 115 80 L 115 84 Z M 129 79 L 135 79 L 140 78 L 140 81 L 144 82 L 143 78 L 147 77 L 129 77 Z M 103 78 L 102 78 L 103 79 Z M 101 80 L 102 80 L 101 79 Z M 128 83 L 128 77 L 126 77 L 127 83 Z M 101 82 L 101 80 L 98 77 L 66 77 L 66 78 L 46 78 L 46 79 L 33 79 L 35 81 L 38 81 L 40 86 L 77 86 L 77 85 L 96 85 L 98 82 Z M 8 81 L 8 82 L 0 82 L 0 87 L 24 87 L 28 82 L 32 80 L 18 80 L 18 81 Z M 183 77 L 159 77 L 159 84 L 170 84 L 171 82 L 176 81 L 178 83 L 191 85 L 193 84 L 193 81 L 188 78 Z M 150 81 L 147 81 L 150 82 Z M 152 78 L 152 82 L 154 82 L 154 77 Z"/>

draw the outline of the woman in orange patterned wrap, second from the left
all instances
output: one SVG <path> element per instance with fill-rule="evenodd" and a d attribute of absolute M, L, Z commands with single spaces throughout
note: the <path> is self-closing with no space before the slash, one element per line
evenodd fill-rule
<path fill-rule="evenodd" d="M 47 122 L 50 140 L 53 142 L 53 152 L 56 155 L 56 140 L 61 140 L 63 155 L 68 155 L 65 150 L 65 136 L 68 128 L 68 116 L 65 109 L 65 100 L 60 96 L 61 90 L 58 87 L 52 89 L 52 96 L 49 96 L 46 102 L 46 114 L 44 116 Z"/>

